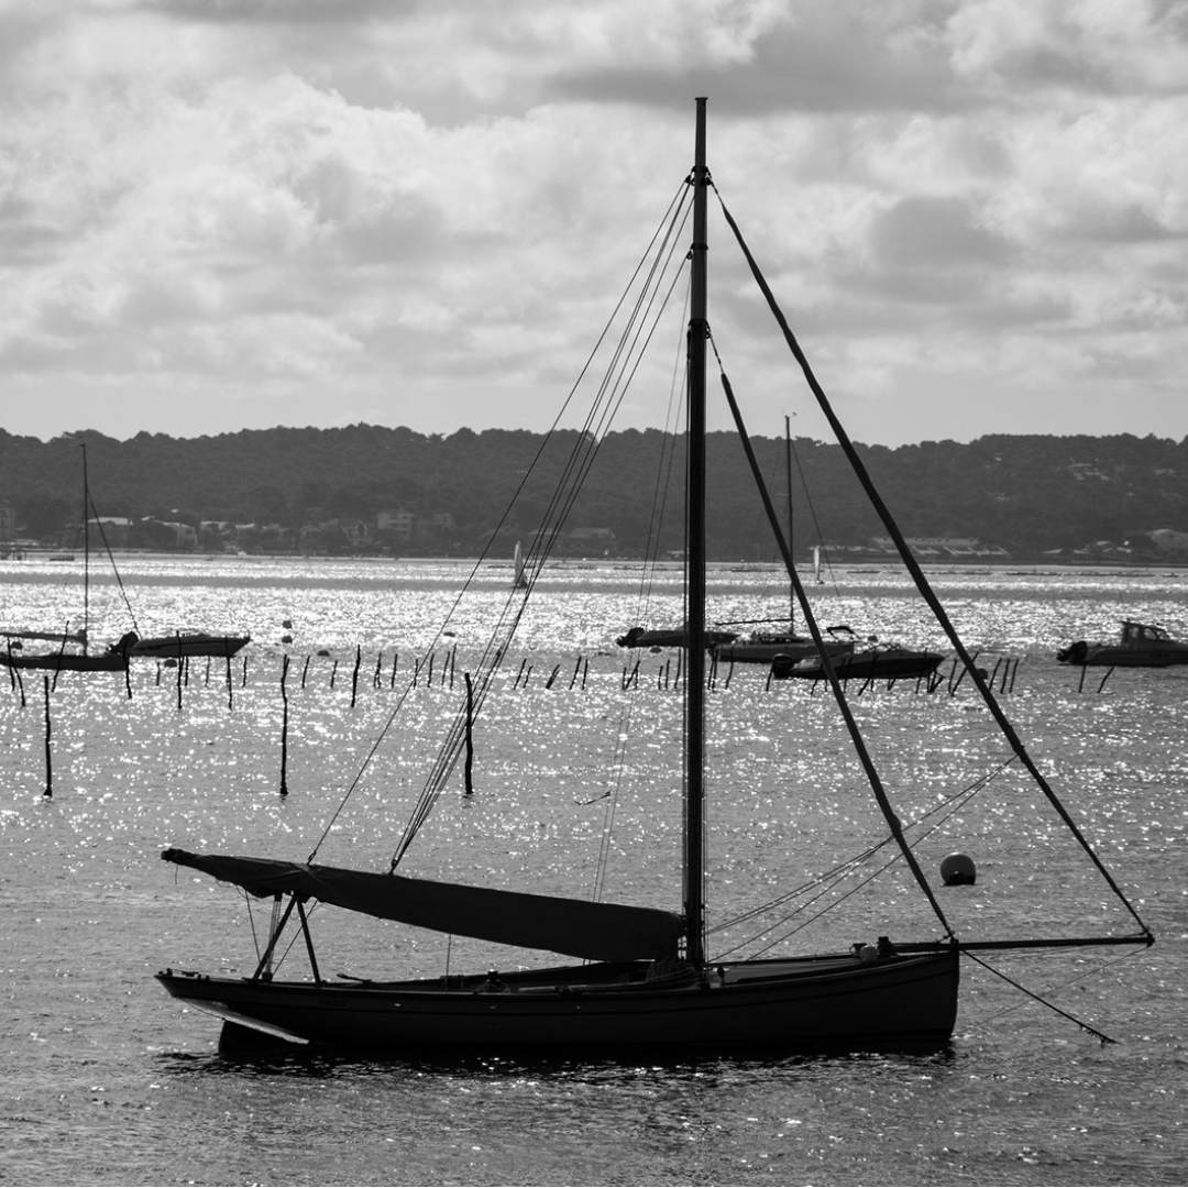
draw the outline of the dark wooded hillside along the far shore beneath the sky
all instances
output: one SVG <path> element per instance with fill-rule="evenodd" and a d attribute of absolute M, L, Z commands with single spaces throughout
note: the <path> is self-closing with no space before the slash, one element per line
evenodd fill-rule
<path fill-rule="evenodd" d="M 503 532 L 531 538 L 574 432 L 424 435 L 359 424 L 196 438 L 141 432 L 127 441 L 83 430 L 43 442 L 0 430 L 0 500 L 14 508 L 21 536 L 55 539 L 77 522 L 80 442 L 87 446 L 91 500 L 105 517 L 297 531 L 335 519 L 374 524 L 380 511 L 403 510 L 423 526 L 437 526 L 404 542 L 402 551 L 473 552 L 510 504 Z M 752 444 L 783 517 L 785 442 L 758 437 Z M 1161 527 L 1188 530 L 1188 440 L 993 435 L 858 449 L 909 537 L 974 538 L 1025 558 L 1097 541 L 1121 543 Z M 791 469 L 798 555 L 811 544 L 859 544 L 883 533 L 840 447 L 794 438 Z M 708 484 L 710 557 L 773 558 L 763 505 L 733 434 L 710 435 Z M 568 523 L 609 530 L 607 548 L 615 555 L 678 550 L 682 487 L 681 450 L 659 430 L 612 432 Z"/>

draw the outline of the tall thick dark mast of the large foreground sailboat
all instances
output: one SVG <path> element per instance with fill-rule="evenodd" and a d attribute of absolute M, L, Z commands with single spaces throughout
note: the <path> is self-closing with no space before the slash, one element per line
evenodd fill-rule
<path fill-rule="evenodd" d="M 689 607 L 685 666 L 684 914 L 685 958 L 706 960 L 704 933 L 704 715 L 706 715 L 706 100 L 697 100 L 693 166 L 691 317 L 689 318 L 689 431 L 685 565 Z"/>

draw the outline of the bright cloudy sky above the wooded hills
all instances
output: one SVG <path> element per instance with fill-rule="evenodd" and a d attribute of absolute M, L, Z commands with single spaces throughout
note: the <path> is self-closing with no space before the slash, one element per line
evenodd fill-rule
<path fill-rule="evenodd" d="M 1188 437 L 1188 0 L 0 0 L 0 429 L 544 431 L 695 96 L 854 440 Z M 827 438 L 709 244 L 748 429 Z"/>

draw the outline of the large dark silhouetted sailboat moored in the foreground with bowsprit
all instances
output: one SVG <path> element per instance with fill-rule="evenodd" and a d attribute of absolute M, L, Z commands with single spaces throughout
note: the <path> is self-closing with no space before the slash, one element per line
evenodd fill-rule
<path fill-rule="evenodd" d="M 407 852 L 406 829 L 387 870 L 361 871 L 315 861 L 322 842 L 305 861 L 267 857 L 192 853 L 169 848 L 162 858 L 241 887 L 249 896 L 271 899 L 273 916 L 254 973 L 233 978 L 166 968 L 157 974 L 176 999 L 223 1020 L 223 1038 L 249 1032 L 297 1044 L 368 1053 L 519 1051 L 602 1056 L 656 1051 L 684 1056 L 693 1051 L 719 1055 L 765 1054 L 820 1048 L 896 1048 L 944 1044 L 958 1013 L 959 972 L 963 954 L 987 949 L 1040 947 L 1150 944 L 1152 935 L 1126 901 L 1112 876 L 1092 854 L 1073 820 L 1037 770 L 1023 742 L 1006 721 L 993 693 L 978 674 L 943 608 L 916 567 L 922 594 L 944 625 L 962 663 L 969 670 L 1013 750 L 1015 759 L 1044 790 L 1067 828 L 1089 855 L 1095 870 L 1120 901 L 1119 915 L 1133 921 L 1123 935 L 1030 936 L 1017 940 L 962 941 L 950 925 L 937 895 L 924 876 L 908 840 L 905 826 L 891 804 L 867 752 L 841 683 L 824 653 L 827 678 L 853 740 L 879 809 L 886 822 L 886 845 L 910 872 L 935 923 L 915 939 L 879 936 L 864 943 L 839 940 L 820 954 L 790 952 L 733 958 L 709 948 L 707 884 L 707 701 L 706 636 L 706 343 L 707 321 L 707 200 L 713 183 L 706 165 L 706 101 L 697 100 L 695 156 L 682 192 L 693 207 L 691 251 L 674 251 L 688 260 L 691 316 L 687 333 L 688 495 L 685 554 L 688 564 L 689 646 L 685 658 L 683 759 L 678 764 L 683 791 L 680 902 L 669 906 L 605 903 L 456 883 L 430 881 L 398 873 Z M 716 190 L 716 188 L 715 188 Z M 725 211 L 725 204 L 723 204 Z M 737 225 L 726 219 L 772 308 L 784 337 L 800 362 L 817 403 L 830 419 L 839 442 L 851 457 L 880 516 L 890 520 L 848 436 L 813 377 L 800 345 L 779 312 Z M 683 221 L 674 227 L 683 227 Z M 672 240 L 677 240 L 676 233 Z M 639 303 L 643 305 L 644 303 Z M 639 335 L 646 337 L 646 335 Z M 723 386 L 741 428 L 728 381 Z M 745 434 L 744 447 L 748 447 Z M 581 435 L 579 448 L 595 449 L 594 435 Z M 752 470 L 759 479 L 758 468 Z M 581 467 L 577 467 L 580 469 Z M 802 614 L 817 646 L 821 628 L 811 614 L 770 498 L 765 507 L 797 593 Z M 909 568 L 910 551 L 895 529 Z M 508 593 L 508 596 L 511 594 Z M 511 619 L 522 613 L 516 604 Z M 506 655 L 497 647 L 495 662 Z M 481 710 L 489 683 L 475 682 L 474 707 Z M 469 719 L 467 719 L 469 721 Z M 426 797 L 413 816 L 419 821 L 446 786 L 462 746 L 462 727 L 450 727 L 426 779 Z M 565 745 L 564 739 L 558 746 Z M 563 764 L 562 764 L 563 765 Z M 349 796 L 349 791 L 347 792 Z M 346 801 L 343 800 L 343 804 Z M 341 811 L 341 805 L 340 805 Z M 411 819 L 410 819 L 411 820 Z M 331 823 L 333 826 L 333 819 Z M 330 833 L 330 826 L 323 840 Z M 360 912 L 450 936 L 475 937 L 498 944 L 543 950 L 571 959 L 568 963 L 487 969 L 457 975 L 447 966 L 443 977 L 397 981 L 352 978 L 329 980 L 317 963 L 315 928 L 308 905 Z M 852 941 L 852 937 L 847 937 Z M 280 979 L 280 955 L 308 958 L 308 977 Z M 296 960 L 296 959 L 295 959 Z M 554 958 L 554 960 L 556 960 Z M 575 963 L 576 962 L 576 963 Z"/>

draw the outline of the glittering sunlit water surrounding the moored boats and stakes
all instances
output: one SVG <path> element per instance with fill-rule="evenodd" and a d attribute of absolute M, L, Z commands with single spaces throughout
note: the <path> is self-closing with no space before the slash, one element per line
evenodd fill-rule
<path fill-rule="evenodd" d="M 1056 665 L 1075 638 L 1135 615 L 1188 637 L 1174 571 L 953 570 L 936 584 L 993 669 L 1030 752 L 1156 931 L 1151 949 L 993 955 L 996 969 L 1113 1037 L 966 962 L 952 1045 L 931 1054 L 598 1063 L 228 1057 L 219 1024 L 169 999 L 165 966 L 254 967 L 248 911 L 230 889 L 162 862 L 190 849 L 304 859 L 434 642 L 463 565 L 392 562 L 121 561 L 141 633 L 251 632 L 246 659 L 0 688 L 0 1183 L 1010 1183 L 1170 1184 L 1188 1163 L 1183 1095 L 1188 886 L 1183 846 L 1188 671 Z M 81 568 L 0 565 L 0 621 L 81 621 Z M 461 699 L 479 621 L 510 567 L 485 573 L 456 636 L 434 651 L 387 739 L 318 852 L 383 868 L 424 778 L 429 739 Z M 621 693 L 612 638 L 681 620 L 675 575 L 639 605 L 632 567 L 571 564 L 542 580 L 476 738 L 470 798 L 447 794 L 409 873 L 589 893 L 613 805 L 609 898 L 674 906 L 680 835 L 675 674 L 647 656 Z M 814 598 L 822 621 L 943 646 L 903 575 L 852 570 Z M 719 619 L 783 613 L 778 576 L 716 570 Z M 291 627 L 282 626 L 284 621 Z M 91 589 L 93 637 L 127 630 L 109 580 Z M 283 644 L 290 634 L 292 642 Z M 455 646 L 456 666 L 447 666 Z M 359 649 L 359 652 L 356 652 Z M 320 656 L 324 651 L 328 655 Z M 278 795 L 280 668 L 291 657 L 289 796 Z M 359 677 L 354 669 L 359 662 Z M 393 680 L 392 669 L 396 666 Z M 588 665 L 588 666 L 587 666 Z M 552 674 L 556 671 L 556 676 Z M 947 671 L 943 670 L 943 671 Z M 551 688 L 546 688 L 552 676 Z M 513 688 L 514 682 L 514 688 Z M 1007 756 L 968 682 L 931 696 L 909 682 L 855 700 L 901 815 L 914 819 Z M 617 796 L 619 735 L 628 751 Z M 712 697 L 714 920 L 861 848 L 879 822 L 828 699 L 739 668 Z M 775 762 L 772 762 L 775 760 Z M 965 849 L 975 887 L 940 891 L 966 939 L 1126 925 L 1034 785 L 1009 766 L 924 843 L 929 873 Z M 934 881 L 937 881 L 934 877 Z M 902 880 L 854 896 L 797 946 L 880 933 L 935 935 Z M 257 931 L 264 917 L 257 909 Z M 506 953 L 397 925 L 315 917 L 323 973 L 485 968 Z M 777 935 L 775 921 L 763 925 Z M 725 934 L 731 940 L 739 934 Z M 716 940 L 716 939 L 715 939 Z M 725 941 L 723 941 L 725 943 Z M 302 956 L 290 958 L 301 975 Z"/>

